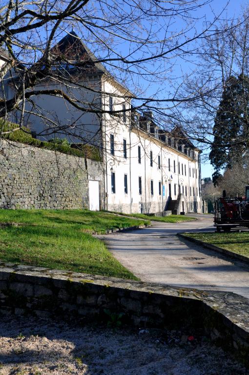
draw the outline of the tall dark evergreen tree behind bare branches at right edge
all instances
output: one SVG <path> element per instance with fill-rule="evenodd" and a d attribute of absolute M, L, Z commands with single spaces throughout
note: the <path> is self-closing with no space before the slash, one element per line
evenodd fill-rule
<path fill-rule="evenodd" d="M 229 77 L 213 126 L 214 140 L 209 159 L 215 168 L 217 184 L 221 169 L 230 169 L 243 161 L 249 149 L 249 77 Z"/>

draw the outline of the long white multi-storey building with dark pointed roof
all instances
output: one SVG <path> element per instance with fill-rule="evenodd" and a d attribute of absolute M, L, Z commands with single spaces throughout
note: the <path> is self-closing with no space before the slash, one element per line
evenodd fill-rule
<path fill-rule="evenodd" d="M 58 85 L 56 80 L 44 77 L 37 87 L 70 90 L 83 111 L 62 98 L 41 94 L 32 97 L 32 105 L 26 104 L 25 125 L 40 139 L 66 136 L 72 142 L 100 147 L 105 193 L 102 198 L 97 190 L 95 194 L 107 210 L 202 212 L 201 151 L 181 128 L 167 132 L 155 125 L 152 113 L 134 111 L 127 88 L 97 62 L 74 32 L 53 51 L 63 59 L 70 56 L 70 61 L 75 55 L 78 60 L 82 58 L 84 74 L 73 63 L 61 61 L 59 69 L 68 73 L 67 84 Z M 5 85 L 10 82 L 8 76 Z M 18 113 L 14 116 L 18 118 Z"/>

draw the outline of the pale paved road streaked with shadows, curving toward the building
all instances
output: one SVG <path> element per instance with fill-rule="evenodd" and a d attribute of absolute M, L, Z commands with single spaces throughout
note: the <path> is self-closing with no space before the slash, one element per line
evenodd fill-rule
<path fill-rule="evenodd" d="M 213 230 L 212 216 L 102 237 L 113 255 L 143 281 L 231 291 L 249 298 L 249 266 L 180 239 L 177 232 Z"/>

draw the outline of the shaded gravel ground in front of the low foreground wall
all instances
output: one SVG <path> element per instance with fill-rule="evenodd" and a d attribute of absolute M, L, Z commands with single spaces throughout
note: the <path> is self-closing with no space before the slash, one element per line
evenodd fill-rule
<path fill-rule="evenodd" d="M 113 331 L 104 326 L 3 316 L 0 336 L 2 375 L 249 374 L 205 337 L 193 339 L 176 331 Z"/>

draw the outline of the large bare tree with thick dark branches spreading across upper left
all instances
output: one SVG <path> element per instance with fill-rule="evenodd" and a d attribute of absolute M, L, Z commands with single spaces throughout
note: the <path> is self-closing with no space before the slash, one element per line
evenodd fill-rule
<path fill-rule="evenodd" d="M 45 125 L 40 130 L 40 136 L 67 132 L 73 137 L 83 114 L 122 116 L 123 110 L 110 110 L 100 105 L 100 98 L 104 93 L 108 94 L 108 90 L 103 93 L 103 87 L 90 81 L 89 76 L 96 72 L 105 74 L 106 80 L 114 77 L 127 88 L 122 95 L 118 90 L 112 92 L 114 97 L 124 103 L 134 100 L 138 111 L 156 111 L 165 127 L 176 120 L 179 104 L 195 101 L 205 107 L 203 98 L 209 92 L 209 86 L 206 87 L 208 80 L 198 83 L 191 93 L 183 93 L 180 81 L 175 88 L 171 85 L 170 93 L 167 85 L 171 83 L 169 76 L 176 59 L 187 61 L 195 56 L 194 42 L 198 43 L 204 37 L 210 43 L 215 41 L 213 25 L 217 18 L 206 22 L 206 26 L 198 32 L 194 14 L 211 2 L 1 1 L 0 47 L 8 51 L 8 59 L 1 66 L 0 79 L 11 84 L 11 90 L 8 94 L 3 90 L 0 117 L 7 119 L 10 114 L 17 113 L 17 128 L 22 127 L 24 122 L 32 122 L 34 116 L 39 117 Z M 67 39 L 62 42 L 65 33 Z M 225 41 L 226 36 L 222 35 Z M 72 37 L 83 40 L 84 44 L 74 42 L 74 49 L 67 49 L 66 43 Z M 155 89 L 151 88 L 152 85 Z M 92 94 L 91 101 L 89 93 Z M 77 116 L 62 124 L 52 110 L 44 113 L 42 100 L 37 101 L 36 98 L 45 96 L 61 98 L 68 111 L 76 112 Z M 174 115 L 170 113 L 172 107 Z M 130 111 L 130 107 L 125 110 Z M 98 131 L 93 131 L 88 139 L 80 132 L 77 137 L 94 143 Z M 193 139 L 202 141 L 203 131 L 202 128 L 198 137 L 192 131 Z"/>

